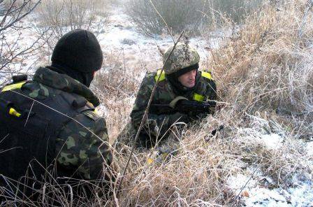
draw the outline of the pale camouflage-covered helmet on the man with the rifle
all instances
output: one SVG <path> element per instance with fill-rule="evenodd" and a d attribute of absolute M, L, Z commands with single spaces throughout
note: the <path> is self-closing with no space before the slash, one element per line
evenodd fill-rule
<path fill-rule="evenodd" d="M 180 71 L 180 69 L 198 64 L 200 61 L 198 52 L 189 45 L 177 43 L 172 55 L 170 55 L 172 49 L 173 46 L 168 48 L 163 55 L 163 69 L 166 74 L 175 73 Z M 170 58 L 168 59 L 168 62 L 166 62 L 168 55 L 170 55 Z"/>

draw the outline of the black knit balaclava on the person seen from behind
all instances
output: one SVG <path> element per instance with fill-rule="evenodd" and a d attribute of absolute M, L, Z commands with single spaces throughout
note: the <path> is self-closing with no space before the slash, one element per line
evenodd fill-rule
<path fill-rule="evenodd" d="M 103 54 L 96 36 L 85 29 L 75 29 L 62 36 L 52 53 L 48 69 L 64 73 L 89 87 L 94 71 L 101 69 Z"/>

